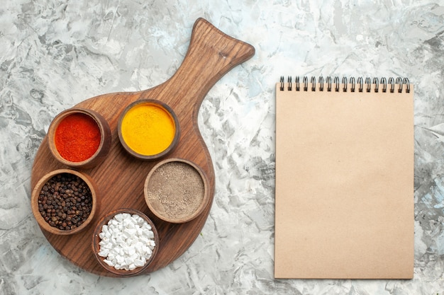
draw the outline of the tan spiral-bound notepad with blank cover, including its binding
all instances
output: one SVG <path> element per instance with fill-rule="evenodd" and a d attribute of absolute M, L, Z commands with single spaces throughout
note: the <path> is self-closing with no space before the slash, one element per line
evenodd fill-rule
<path fill-rule="evenodd" d="M 341 82 L 276 84 L 274 277 L 412 278 L 413 86 Z"/>

